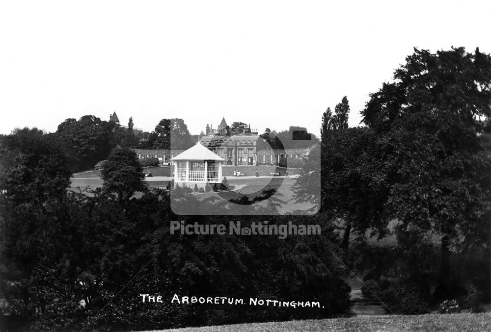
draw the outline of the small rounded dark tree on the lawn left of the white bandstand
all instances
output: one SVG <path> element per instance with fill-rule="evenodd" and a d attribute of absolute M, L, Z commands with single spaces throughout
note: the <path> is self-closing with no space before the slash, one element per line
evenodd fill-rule
<path fill-rule="evenodd" d="M 143 167 L 136 153 L 127 148 L 114 148 L 101 171 L 103 189 L 116 193 L 120 203 L 127 203 L 136 191 L 145 191 Z"/>

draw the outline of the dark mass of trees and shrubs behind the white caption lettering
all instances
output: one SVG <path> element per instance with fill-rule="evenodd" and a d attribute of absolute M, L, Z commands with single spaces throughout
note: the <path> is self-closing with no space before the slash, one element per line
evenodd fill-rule
<path fill-rule="evenodd" d="M 125 148 L 110 153 L 101 172 L 103 188 L 90 195 L 68 192 L 70 175 L 62 172 L 67 161 L 49 140 L 55 137 L 37 131 L 30 134 L 32 141 L 22 143 L 19 153 L 12 153 L 16 155 L 6 163 L 2 184 L 10 187 L 8 195 L 0 196 L 0 282 L 12 304 L 9 308 L 23 323 L 20 330 L 80 330 L 88 323 L 92 331 L 163 329 L 315 318 L 349 306 L 349 288 L 329 252 L 336 247 L 329 225 L 323 226 L 327 236 L 286 240 L 170 234 L 170 220 L 216 224 L 226 223 L 230 216 L 174 215 L 166 190 L 142 187 L 141 165 L 135 153 Z M 37 159 L 23 157 L 31 154 Z M 11 172 L 27 172 L 31 167 L 38 171 L 38 178 Z M 228 185 L 226 179 L 224 183 Z M 27 197 L 21 189 L 31 186 L 43 191 Z M 134 197 L 136 191 L 142 191 L 141 195 Z M 187 187 L 176 186 L 174 191 L 181 191 L 186 204 L 200 196 L 192 195 Z M 219 207 L 218 203 L 211 209 Z M 254 217 L 240 219 L 250 225 Z M 271 222 L 287 220 L 309 221 L 273 217 Z M 322 223 L 321 218 L 310 221 Z M 248 297 L 317 300 L 326 307 L 170 304 L 175 292 L 204 297 L 224 294 L 245 301 Z M 164 303 L 143 304 L 141 293 L 162 294 Z"/>

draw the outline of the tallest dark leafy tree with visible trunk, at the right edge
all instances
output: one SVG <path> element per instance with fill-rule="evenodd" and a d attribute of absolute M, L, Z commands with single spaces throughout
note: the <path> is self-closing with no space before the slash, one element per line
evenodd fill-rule
<path fill-rule="evenodd" d="M 490 248 L 491 57 L 464 48 L 414 49 L 394 81 L 370 95 L 363 122 L 378 135 L 380 199 L 403 229 L 441 238 L 437 295 L 457 289 L 450 255 Z M 483 121 L 484 118 L 484 121 Z"/>

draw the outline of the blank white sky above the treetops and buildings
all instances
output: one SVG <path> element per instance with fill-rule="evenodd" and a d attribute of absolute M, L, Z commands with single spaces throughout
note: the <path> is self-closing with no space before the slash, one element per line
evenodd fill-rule
<path fill-rule="evenodd" d="M 414 47 L 491 53 L 490 18 L 489 0 L 2 1 L 0 133 L 115 111 L 318 135 L 343 96 L 356 127 Z"/>

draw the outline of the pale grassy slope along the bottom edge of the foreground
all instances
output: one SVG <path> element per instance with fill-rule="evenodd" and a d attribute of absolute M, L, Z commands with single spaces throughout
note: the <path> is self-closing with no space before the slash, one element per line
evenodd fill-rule
<path fill-rule="evenodd" d="M 202 328 L 160 330 L 165 332 L 211 332 L 211 331 L 491 331 L 491 313 L 427 314 L 427 315 L 384 315 L 355 316 L 351 318 L 333 318 L 273 323 L 251 323 Z"/>

